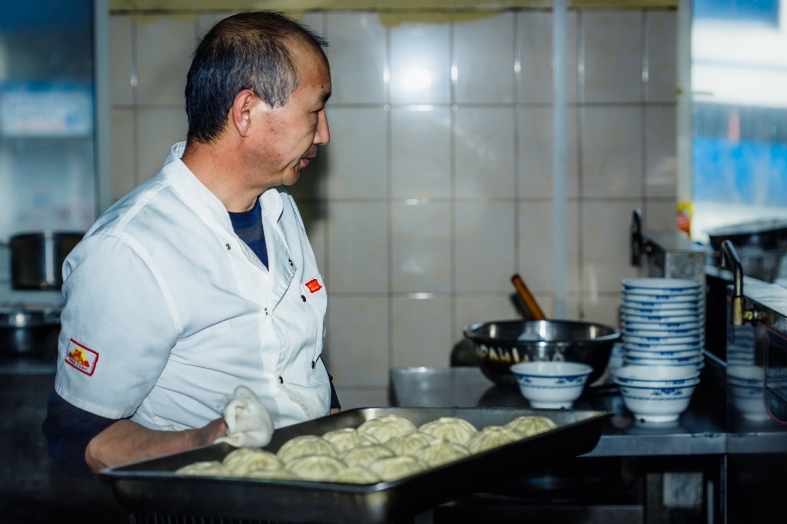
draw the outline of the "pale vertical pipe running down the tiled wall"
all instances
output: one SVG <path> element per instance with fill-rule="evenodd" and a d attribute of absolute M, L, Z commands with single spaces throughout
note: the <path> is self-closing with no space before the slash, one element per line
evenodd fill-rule
<path fill-rule="evenodd" d="M 566 0 L 552 4 L 552 318 L 567 315 Z"/>

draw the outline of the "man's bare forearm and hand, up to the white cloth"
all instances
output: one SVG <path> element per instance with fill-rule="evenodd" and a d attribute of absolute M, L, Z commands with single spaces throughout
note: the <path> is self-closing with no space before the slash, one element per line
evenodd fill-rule
<path fill-rule="evenodd" d="M 224 419 L 216 419 L 197 430 L 150 430 L 131 420 L 118 420 L 93 437 L 85 450 L 87 466 L 94 473 L 154 456 L 212 444 L 227 434 Z"/>

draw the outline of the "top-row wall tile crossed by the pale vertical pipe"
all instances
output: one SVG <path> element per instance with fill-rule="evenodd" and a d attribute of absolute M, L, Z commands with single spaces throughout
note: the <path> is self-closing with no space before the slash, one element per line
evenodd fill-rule
<path fill-rule="evenodd" d="M 566 16 L 566 98 L 577 101 L 577 28 L 576 11 Z M 552 13 L 519 12 L 521 73 L 519 101 L 552 103 Z"/>

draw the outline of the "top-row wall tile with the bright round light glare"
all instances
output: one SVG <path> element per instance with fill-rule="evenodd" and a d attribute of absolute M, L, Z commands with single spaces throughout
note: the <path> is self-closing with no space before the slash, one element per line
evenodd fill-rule
<path fill-rule="evenodd" d="M 390 50 L 394 104 L 450 101 L 449 24 L 400 24 L 390 30 Z"/>

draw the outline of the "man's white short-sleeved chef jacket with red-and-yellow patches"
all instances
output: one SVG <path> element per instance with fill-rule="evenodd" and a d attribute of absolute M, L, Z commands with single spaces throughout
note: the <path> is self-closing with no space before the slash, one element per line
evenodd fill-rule
<path fill-rule="evenodd" d="M 66 258 L 55 390 L 158 430 L 205 426 L 241 384 L 276 427 L 327 415 L 327 295 L 293 198 L 260 196 L 266 269 L 180 160 L 185 145 Z"/>

